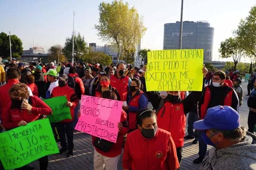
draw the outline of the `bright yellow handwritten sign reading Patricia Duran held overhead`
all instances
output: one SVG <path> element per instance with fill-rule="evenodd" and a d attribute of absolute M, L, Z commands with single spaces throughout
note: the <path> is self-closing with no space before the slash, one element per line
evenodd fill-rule
<path fill-rule="evenodd" d="M 147 91 L 202 91 L 204 50 L 147 53 Z"/>

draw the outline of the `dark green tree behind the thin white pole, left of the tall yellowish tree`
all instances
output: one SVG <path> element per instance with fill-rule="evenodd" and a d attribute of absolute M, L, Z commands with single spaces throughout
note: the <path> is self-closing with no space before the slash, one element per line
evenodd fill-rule
<path fill-rule="evenodd" d="M 72 37 L 68 37 L 63 48 L 63 54 L 68 59 L 72 58 L 72 46 L 73 39 Z M 74 34 L 74 61 L 78 62 L 79 59 L 84 60 L 84 56 L 86 56 L 88 53 L 89 48 L 84 40 L 84 37 L 82 37 L 80 33 L 78 33 L 78 35 Z"/>

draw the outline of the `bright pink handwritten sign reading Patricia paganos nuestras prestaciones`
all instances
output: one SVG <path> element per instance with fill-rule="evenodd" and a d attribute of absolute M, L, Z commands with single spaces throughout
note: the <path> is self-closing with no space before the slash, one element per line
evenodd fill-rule
<path fill-rule="evenodd" d="M 82 95 L 75 130 L 116 143 L 123 102 Z"/>

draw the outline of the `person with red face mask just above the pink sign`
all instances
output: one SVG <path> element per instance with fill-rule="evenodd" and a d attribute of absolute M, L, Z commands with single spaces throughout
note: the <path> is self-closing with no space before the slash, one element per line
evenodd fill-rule
<path fill-rule="evenodd" d="M 101 75 L 101 79 L 100 79 L 99 84 L 100 84 L 100 86 L 98 86 L 98 88 L 96 89 L 95 97 L 101 98 L 103 91 L 111 90 L 116 94 L 117 100 L 121 101 L 120 100 L 120 95 L 119 95 L 118 91 L 116 90 L 116 88 L 110 86 L 110 80 L 109 80 L 109 76 L 107 74 L 102 74 Z"/>

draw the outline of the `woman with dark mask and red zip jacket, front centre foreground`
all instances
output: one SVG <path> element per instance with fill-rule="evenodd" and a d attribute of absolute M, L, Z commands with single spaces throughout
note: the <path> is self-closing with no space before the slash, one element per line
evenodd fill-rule
<path fill-rule="evenodd" d="M 179 162 L 172 136 L 157 127 L 157 116 L 150 110 L 137 115 L 139 129 L 127 135 L 124 170 L 176 170 Z"/>

